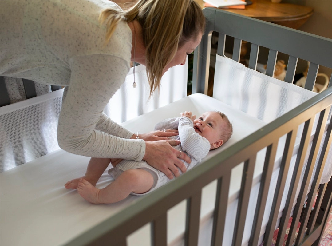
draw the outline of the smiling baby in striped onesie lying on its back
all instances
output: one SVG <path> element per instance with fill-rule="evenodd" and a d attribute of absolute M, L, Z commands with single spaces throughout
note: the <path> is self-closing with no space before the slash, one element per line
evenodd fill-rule
<path fill-rule="evenodd" d="M 178 129 L 179 135 L 170 137 L 181 141 L 175 146 L 191 158 L 191 164 L 184 162 L 187 170 L 202 161 L 208 151 L 220 147 L 233 133 L 232 124 L 221 112 L 209 111 L 198 119 L 191 112 L 180 114 L 180 118 L 166 119 L 156 124 L 155 130 Z M 164 130 L 165 131 L 165 130 Z M 96 188 L 97 181 L 109 164 L 108 173 L 115 179 L 103 189 Z M 181 171 L 180 171 L 181 174 Z M 128 195 L 144 195 L 171 181 L 164 173 L 151 167 L 145 161 L 91 158 L 85 175 L 65 184 L 66 189 L 77 189 L 90 203 L 108 204 L 125 199 Z"/>

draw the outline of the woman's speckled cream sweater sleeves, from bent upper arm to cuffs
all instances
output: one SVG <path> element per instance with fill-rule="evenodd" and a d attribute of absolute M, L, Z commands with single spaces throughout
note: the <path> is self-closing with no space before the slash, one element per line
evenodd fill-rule
<path fill-rule="evenodd" d="M 94 54 L 72 58 L 70 67 L 70 84 L 58 123 L 59 146 L 89 157 L 142 160 L 144 140 L 126 139 L 133 133 L 103 114 L 125 79 L 128 63 Z"/>

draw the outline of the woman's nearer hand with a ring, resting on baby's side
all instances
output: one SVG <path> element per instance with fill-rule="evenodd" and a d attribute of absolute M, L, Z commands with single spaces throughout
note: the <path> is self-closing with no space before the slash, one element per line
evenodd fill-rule
<path fill-rule="evenodd" d="M 183 173 L 187 171 L 185 164 L 180 159 L 187 163 L 190 163 L 191 160 L 188 155 L 172 147 L 178 144 L 180 144 L 180 141 L 175 139 L 145 142 L 143 160 L 163 172 L 170 179 L 173 179 L 174 176 L 179 177 L 178 168 Z"/>

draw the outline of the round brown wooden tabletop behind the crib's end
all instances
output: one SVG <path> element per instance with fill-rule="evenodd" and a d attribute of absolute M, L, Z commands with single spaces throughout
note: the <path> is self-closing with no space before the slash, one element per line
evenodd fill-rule
<path fill-rule="evenodd" d="M 202 8 L 205 2 L 195 0 Z M 251 0 L 245 9 L 224 9 L 226 11 L 268 21 L 285 27 L 298 29 L 313 13 L 313 8 L 287 2 L 272 3 L 270 0 Z"/>

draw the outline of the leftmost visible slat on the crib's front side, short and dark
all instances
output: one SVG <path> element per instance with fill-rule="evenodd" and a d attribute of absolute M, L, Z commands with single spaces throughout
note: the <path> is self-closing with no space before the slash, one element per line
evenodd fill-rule
<path fill-rule="evenodd" d="M 167 213 L 163 213 L 152 222 L 151 226 L 152 245 L 167 245 Z"/>

